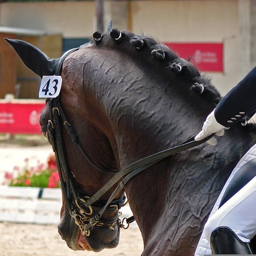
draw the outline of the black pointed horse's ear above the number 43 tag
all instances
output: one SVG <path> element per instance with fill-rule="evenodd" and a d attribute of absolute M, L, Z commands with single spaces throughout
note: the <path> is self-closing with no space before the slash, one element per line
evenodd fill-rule
<path fill-rule="evenodd" d="M 40 77 L 43 75 L 54 75 L 53 71 L 58 59 L 49 59 L 46 54 L 28 42 L 8 38 L 5 38 L 5 40 L 15 49 L 15 52 L 26 67 L 35 74 Z"/>

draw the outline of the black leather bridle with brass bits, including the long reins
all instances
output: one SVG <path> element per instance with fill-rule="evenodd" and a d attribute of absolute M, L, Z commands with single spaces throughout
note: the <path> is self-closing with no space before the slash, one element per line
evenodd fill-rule
<path fill-rule="evenodd" d="M 70 53 L 76 51 L 77 49 L 78 48 L 71 49 L 61 56 L 58 64 L 55 67 L 54 74 L 61 74 L 63 61 Z M 169 155 L 178 153 L 183 150 L 188 150 L 189 148 L 200 145 L 207 141 L 213 135 L 212 134 L 211 136 L 201 141 L 195 141 L 193 137 L 176 147 L 161 151 L 159 153 L 150 155 L 149 157 L 143 158 L 137 162 L 134 162 L 131 165 L 117 172 L 112 177 L 112 179 L 110 179 L 101 189 L 97 191 L 97 193 L 89 197 L 87 195 L 84 195 L 84 192 L 81 191 L 79 186 L 77 186 L 74 174 L 68 166 L 67 152 L 63 143 L 64 140 L 62 128 L 65 127 L 73 143 L 80 150 L 83 157 L 92 167 L 101 172 L 107 171 L 95 165 L 95 163 L 90 160 L 86 152 L 83 150 L 81 144 L 79 143 L 79 139 L 77 138 L 72 126 L 68 123 L 65 113 L 62 110 L 60 96 L 49 99 L 48 104 L 49 120 L 47 125 L 47 133 L 48 139 L 53 147 L 53 151 L 55 152 L 56 163 L 60 176 L 60 187 L 69 213 L 74 218 L 75 223 L 79 226 L 84 236 L 90 236 L 90 231 L 94 227 L 105 227 L 111 230 L 113 230 L 113 226 L 115 225 L 124 227 L 124 221 L 122 223 L 119 221 L 118 211 L 124 205 L 125 196 L 118 199 L 115 199 L 115 197 L 124 188 L 127 181 L 129 181 L 133 176 L 139 174 L 143 170 L 154 165 L 155 163 L 167 158 Z M 118 184 L 115 191 L 113 191 L 109 200 L 100 200 L 102 195 L 104 195 L 106 191 L 112 188 L 119 180 L 122 181 Z M 113 219 L 112 221 L 102 220 L 101 217 L 104 212 L 109 214 L 113 214 L 116 212 L 115 219 Z M 134 221 L 133 217 L 125 219 L 128 226 L 132 221 Z"/>

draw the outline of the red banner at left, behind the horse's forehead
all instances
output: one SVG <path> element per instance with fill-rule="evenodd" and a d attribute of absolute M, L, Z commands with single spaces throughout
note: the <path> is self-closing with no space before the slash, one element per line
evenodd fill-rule
<path fill-rule="evenodd" d="M 39 118 L 44 101 L 0 101 L 0 133 L 40 133 Z"/>

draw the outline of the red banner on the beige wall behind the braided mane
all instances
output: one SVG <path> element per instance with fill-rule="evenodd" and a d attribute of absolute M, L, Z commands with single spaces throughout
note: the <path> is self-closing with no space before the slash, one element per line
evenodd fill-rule
<path fill-rule="evenodd" d="M 172 43 L 165 42 L 181 58 L 195 63 L 201 71 L 223 72 L 222 43 Z"/>

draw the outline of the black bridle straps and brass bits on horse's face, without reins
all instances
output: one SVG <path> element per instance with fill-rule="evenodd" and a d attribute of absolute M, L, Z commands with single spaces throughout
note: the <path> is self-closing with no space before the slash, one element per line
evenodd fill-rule
<path fill-rule="evenodd" d="M 112 200 L 108 205 L 106 205 L 107 202 L 103 200 L 97 200 L 88 206 L 85 205 L 90 197 L 84 195 L 83 191 L 81 191 L 77 186 L 74 174 L 68 166 L 66 148 L 63 144 L 63 126 L 72 138 L 73 143 L 77 148 L 79 148 L 83 157 L 90 163 L 90 165 L 101 172 L 106 171 L 96 166 L 89 159 L 86 152 L 84 152 L 74 130 L 72 129 L 72 126 L 67 122 L 65 114 L 62 111 L 59 98 L 52 98 L 48 104 L 50 109 L 50 116 L 47 125 L 48 139 L 51 141 L 53 151 L 55 152 L 56 163 L 60 176 L 60 187 L 70 215 L 74 218 L 75 223 L 80 227 L 83 235 L 89 236 L 90 230 L 93 226 L 106 227 L 113 230 L 113 226 L 119 224 L 118 210 L 124 205 L 125 196 L 118 198 L 117 200 Z M 90 229 L 86 229 L 87 225 L 91 222 L 93 214 L 96 213 L 97 215 L 98 211 L 102 208 L 105 208 L 105 212 L 109 214 L 116 212 L 116 218 L 112 221 L 102 221 L 101 218 L 98 218 Z"/>

